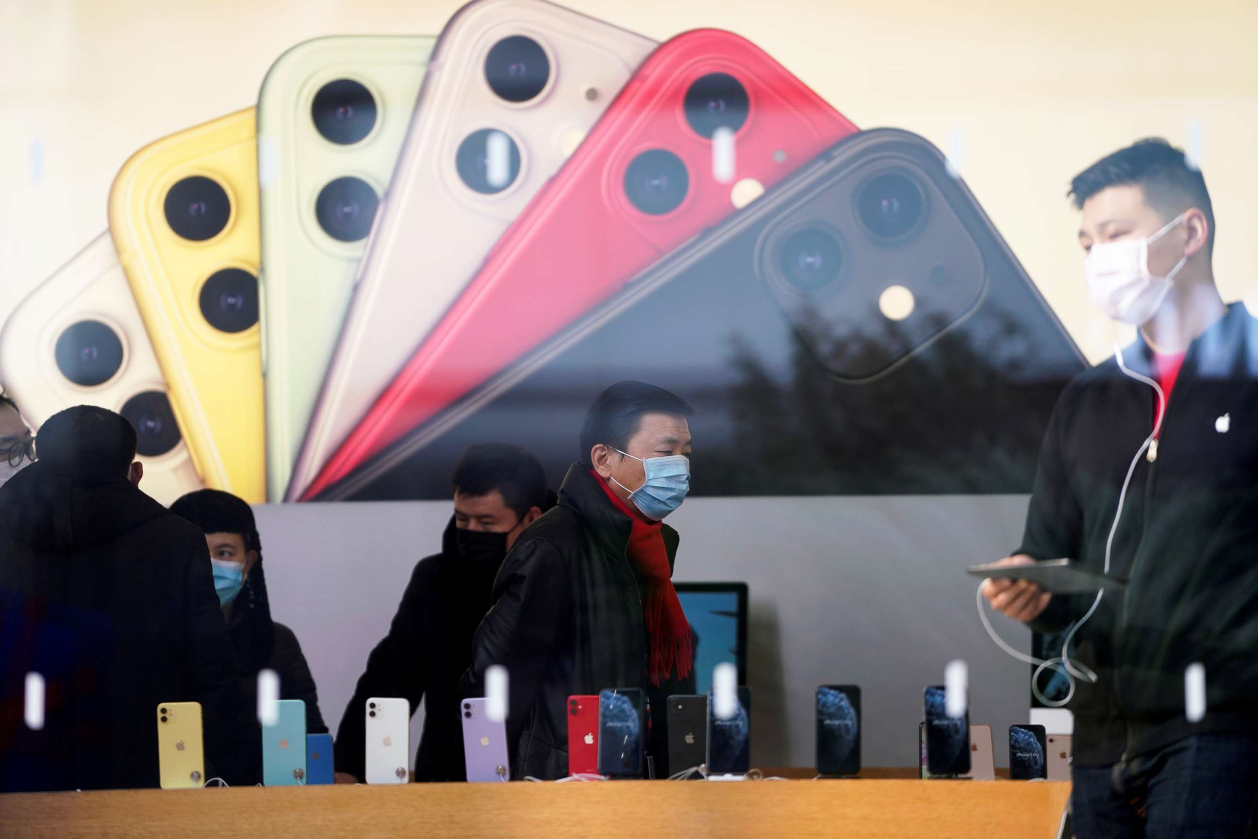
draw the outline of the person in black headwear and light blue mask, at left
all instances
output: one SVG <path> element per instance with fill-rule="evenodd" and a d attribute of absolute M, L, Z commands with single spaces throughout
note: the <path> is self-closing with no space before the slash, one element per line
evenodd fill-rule
<path fill-rule="evenodd" d="M 258 672 L 274 670 L 279 698 L 306 703 L 306 731 L 327 733 L 318 709 L 314 678 L 293 630 L 270 618 L 267 575 L 262 565 L 262 538 L 253 509 L 243 498 L 218 489 L 198 489 L 170 506 L 205 533 L 214 571 L 214 589 L 231 634 L 240 687 L 250 706 L 258 703 Z"/>

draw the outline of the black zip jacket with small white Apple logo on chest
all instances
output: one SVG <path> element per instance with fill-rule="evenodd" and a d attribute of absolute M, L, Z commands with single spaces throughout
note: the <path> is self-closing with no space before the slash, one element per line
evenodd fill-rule
<path fill-rule="evenodd" d="M 1123 351 L 1156 379 L 1145 341 Z M 1040 453 L 1021 551 L 1101 570 L 1127 469 L 1152 430 L 1156 394 L 1110 360 L 1076 377 Z M 1078 681 L 1074 760 L 1112 764 L 1190 733 L 1258 728 L 1258 321 L 1235 303 L 1193 342 L 1156 458 L 1127 489 L 1106 594 L 1072 647 L 1099 675 Z M 1053 597 L 1032 623 L 1060 631 L 1094 595 Z M 1184 670 L 1205 665 L 1208 713 L 1184 716 Z"/>

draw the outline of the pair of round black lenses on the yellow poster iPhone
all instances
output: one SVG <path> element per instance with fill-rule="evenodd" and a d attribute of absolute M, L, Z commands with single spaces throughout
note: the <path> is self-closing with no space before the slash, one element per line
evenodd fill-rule
<path fill-rule="evenodd" d="M 165 213 L 166 224 L 176 235 L 189 242 L 208 242 L 228 226 L 231 200 L 218 181 L 194 175 L 170 187 Z M 258 278 L 240 268 L 215 272 L 201 286 L 200 304 L 201 316 L 215 330 L 244 332 L 258 322 Z M 74 381 L 69 374 L 67 377 Z"/>

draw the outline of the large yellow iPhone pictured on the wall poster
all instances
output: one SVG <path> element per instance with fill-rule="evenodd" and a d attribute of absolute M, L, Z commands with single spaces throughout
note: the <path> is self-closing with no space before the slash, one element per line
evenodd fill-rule
<path fill-rule="evenodd" d="M 206 487 L 267 499 L 254 108 L 159 140 L 109 191 L 109 230 Z"/>

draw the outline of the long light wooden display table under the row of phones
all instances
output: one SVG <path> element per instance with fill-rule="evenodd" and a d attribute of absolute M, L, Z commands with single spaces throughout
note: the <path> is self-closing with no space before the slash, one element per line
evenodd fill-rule
<path fill-rule="evenodd" d="M 0 795 L 0 835 L 1053 839 L 1069 784 L 595 781 Z"/>

